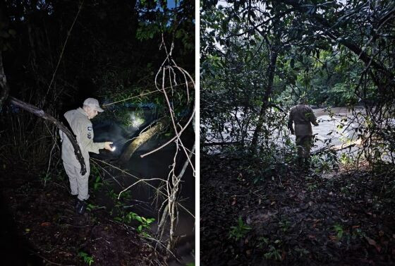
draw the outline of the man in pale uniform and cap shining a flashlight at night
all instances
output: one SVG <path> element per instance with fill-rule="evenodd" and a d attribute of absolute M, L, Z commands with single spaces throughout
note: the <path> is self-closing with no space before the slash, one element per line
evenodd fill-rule
<path fill-rule="evenodd" d="M 81 165 L 75 157 L 73 145 L 62 131 L 59 131 L 61 136 L 62 151 L 61 158 L 63 160 L 63 167 L 66 170 L 68 179 L 70 181 L 71 195 L 77 196 L 76 210 L 83 214 L 86 208 L 88 194 L 88 178 L 90 175 L 89 152 L 99 153 L 100 149 L 111 150 L 111 142 L 94 143 L 92 122 L 90 119 L 97 116 L 97 112 L 104 111 L 99 106 L 97 99 L 87 98 L 84 101 L 83 108 L 67 111 L 64 114 L 68 124 L 70 125 L 76 139 L 80 146 L 87 172 L 85 175 L 80 174 Z"/>

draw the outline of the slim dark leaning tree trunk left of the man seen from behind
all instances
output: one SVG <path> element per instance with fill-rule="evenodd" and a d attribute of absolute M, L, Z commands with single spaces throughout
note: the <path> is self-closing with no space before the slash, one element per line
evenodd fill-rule
<path fill-rule="evenodd" d="M 257 123 L 257 127 L 255 128 L 253 140 L 251 141 L 251 151 L 255 152 L 257 150 L 257 143 L 260 133 L 262 133 L 263 122 L 265 121 L 266 109 L 269 106 L 269 97 L 273 91 L 273 80 L 274 80 L 274 71 L 276 70 L 276 62 L 279 44 L 278 42 L 274 42 L 272 48 L 270 49 L 270 58 L 269 58 L 269 66 L 267 66 L 266 76 L 266 88 L 265 95 L 262 97 L 262 107 L 260 109 L 260 115 Z"/>

